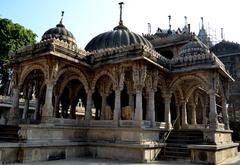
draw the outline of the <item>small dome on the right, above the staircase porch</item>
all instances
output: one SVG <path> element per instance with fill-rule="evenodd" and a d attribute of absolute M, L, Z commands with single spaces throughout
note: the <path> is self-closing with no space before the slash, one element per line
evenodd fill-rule
<path fill-rule="evenodd" d="M 181 48 L 180 56 L 192 56 L 209 52 L 209 48 L 194 35 L 192 40 Z"/>

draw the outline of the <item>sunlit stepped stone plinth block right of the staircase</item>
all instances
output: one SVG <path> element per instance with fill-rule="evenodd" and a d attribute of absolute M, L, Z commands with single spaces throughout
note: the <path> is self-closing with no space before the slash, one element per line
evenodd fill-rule
<path fill-rule="evenodd" d="M 189 145 L 192 163 L 219 164 L 238 153 L 238 143 L 232 142 L 231 130 L 205 130 L 205 144 Z"/>

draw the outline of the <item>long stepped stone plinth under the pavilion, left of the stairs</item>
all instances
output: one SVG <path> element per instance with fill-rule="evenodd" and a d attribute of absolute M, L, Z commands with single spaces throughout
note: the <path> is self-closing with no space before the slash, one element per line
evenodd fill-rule
<path fill-rule="evenodd" d="M 155 160 L 163 143 L 159 129 L 20 125 L 21 142 L 0 146 L 0 160 L 34 162 L 90 156 L 131 162 Z M 7 159 L 11 157 L 11 159 Z"/>

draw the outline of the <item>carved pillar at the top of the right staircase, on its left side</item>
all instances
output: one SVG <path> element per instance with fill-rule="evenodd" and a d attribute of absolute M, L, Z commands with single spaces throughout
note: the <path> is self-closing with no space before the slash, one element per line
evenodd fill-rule
<path fill-rule="evenodd" d="M 163 102 L 164 102 L 164 110 L 165 110 L 164 120 L 166 122 L 166 128 L 171 129 L 172 128 L 171 111 L 170 111 L 171 95 L 163 94 L 162 96 L 163 96 Z"/>

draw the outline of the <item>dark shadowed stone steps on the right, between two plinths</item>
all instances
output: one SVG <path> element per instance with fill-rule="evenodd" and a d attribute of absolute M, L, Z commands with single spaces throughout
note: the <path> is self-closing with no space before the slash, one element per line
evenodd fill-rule
<path fill-rule="evenodd" d="M 158 159 L 160 160 L 178 160 L 190 159 L 190 149 L 187 148 L 189 144 L 202 144 L 203 133 L 197 130 L 173 130 L 169 134 L 166 142 L 166 147 Z"/>

